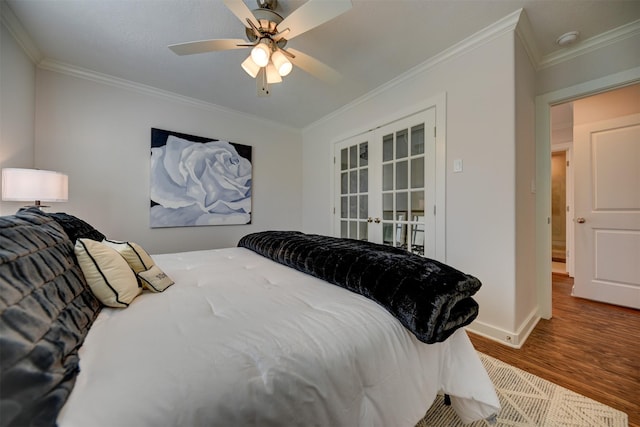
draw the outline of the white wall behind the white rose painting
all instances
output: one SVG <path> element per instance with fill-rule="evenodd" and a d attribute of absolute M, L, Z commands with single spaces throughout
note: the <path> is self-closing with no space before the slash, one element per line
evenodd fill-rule
<path fill-rule="evenodd" d="M 149 90 L 38 69 L 35 164 L 69 175 L 77 215 L 152 253 L 235 246 L 244 234 L 300 229 L 301 135 L 240 113 Z M 251 225 L 151 229 L 151 128 L 253 147 Z"/>

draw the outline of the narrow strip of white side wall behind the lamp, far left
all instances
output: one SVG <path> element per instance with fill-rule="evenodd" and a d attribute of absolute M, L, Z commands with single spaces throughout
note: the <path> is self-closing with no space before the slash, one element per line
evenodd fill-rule
<path fill-rule="evenodd" d="M 35 75 L 31 59 L 0 25 L 0 169 L 34 167 Z M 0 200 L 0 215 L 23 204 Z"/>

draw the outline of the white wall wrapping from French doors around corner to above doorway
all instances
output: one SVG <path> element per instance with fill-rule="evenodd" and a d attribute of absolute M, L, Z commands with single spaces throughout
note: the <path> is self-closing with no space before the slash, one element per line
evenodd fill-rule
<path fill-rule="evenodd" d="M 446 261 L 483 281 L 471 329 L 519 346 L 539 316 L 548 317 L 538 303 L 550 298 L 540 285 L 551 277 L 550 210 L 541 203 L 550 197 L 549 150 L 538 148 L 534 128 L 545 118 L 536 117 L 535 95 L 638 67 L 640 34 L 593 42 L 542 67 L 531 63 L 520 32 L 511 35 L 392 82 L 305 129 L 303 229 L 331 233 L 333 143 L 445 92 Z M 456 158 L 464 160 L 462 174 L 451 172 Z"/>

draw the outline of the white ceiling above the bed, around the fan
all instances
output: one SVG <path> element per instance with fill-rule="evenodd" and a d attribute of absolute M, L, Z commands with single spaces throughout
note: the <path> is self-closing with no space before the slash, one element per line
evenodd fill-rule
<path fill-rule="evenodd" d="M 523 8 L 542 58 L 555 39 L 588 40 L 640 19 L 637 0 L 352 0 L 353 8 L 289 42 L 342 75 L 327 84 L 300 69 L 257 97 L 240 68 L 247 50 L 177 56 L 167 45 L 244 38 L 222 0 L 3 0 L 43 60 L 221 105 L 293 128 L 363 96 Z M 312 0 L 331 1 L 331 0 Z M 251 9 L 257 4 L 245 0 Z M 279 0 L 287 16 L 305 0 Z"/>

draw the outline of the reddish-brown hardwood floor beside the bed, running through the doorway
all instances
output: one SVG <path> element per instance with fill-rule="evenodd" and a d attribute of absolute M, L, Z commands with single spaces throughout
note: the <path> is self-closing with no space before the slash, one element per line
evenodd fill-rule
<path fill-rule="evenodd" d="M 553 318 L 519 350 L 469 333 L 478 351 L 626 412 L 640 427 L 640 311 L 571 296 L 553 275 Z"/>

